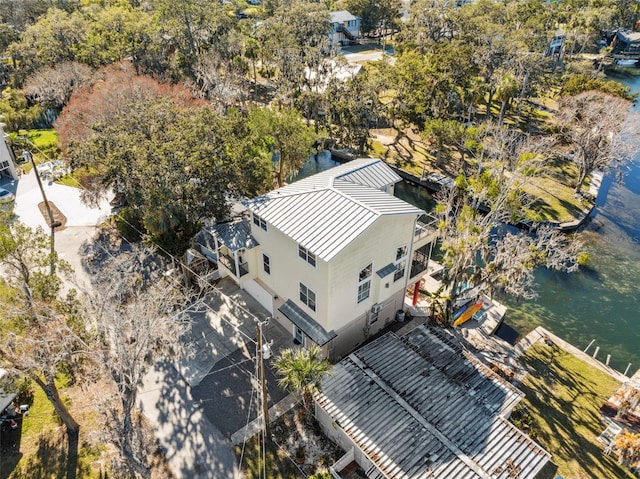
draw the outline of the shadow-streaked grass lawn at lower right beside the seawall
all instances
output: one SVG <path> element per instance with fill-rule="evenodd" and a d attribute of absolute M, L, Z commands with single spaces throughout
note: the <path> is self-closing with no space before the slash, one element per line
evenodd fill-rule
<path fill-rule="evenodd" d="M 603 453 L 596 437 L 602 432 L 600 406 L 620 383 L 560 349 L 538 343 L 521 357 L 530 371 L 520 389 L 521 404 L 533 416 L 535 439 L 558 466 L 564 479 L 634 476 Z M 552 476 L 553 477 L 553 476 Z"/>

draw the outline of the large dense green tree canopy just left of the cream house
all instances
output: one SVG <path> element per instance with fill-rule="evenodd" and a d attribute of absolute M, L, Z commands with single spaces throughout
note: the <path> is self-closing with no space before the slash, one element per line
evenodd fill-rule
<path fill-rule="evenodd" d="M 141 101 L 109 123 L 94 124 L 86 141 L 69 148 L 69 156 L 91 194 L 111 189 L 123 195 L 155 241 L 180 251 L 205 218 L 227 216 L 229 197 L 266 184 L 264 177 L 252 178 L 257 185 L 244 178 L 256 171 L 230 151 L 232 121 L 209 107 Z"/>

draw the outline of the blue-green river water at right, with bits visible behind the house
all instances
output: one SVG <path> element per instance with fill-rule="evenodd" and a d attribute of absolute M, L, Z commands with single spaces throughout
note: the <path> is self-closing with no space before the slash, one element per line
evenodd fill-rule
<path fill-rule="evenodd" d="M 640 76 L 619 80 L 640 92 Z M 337 164 L 320 157 L 291 180 Z M 640 368 L 640 155 L 624 173 L 623 183 L 605 177 L 592 220 L 577 233 L 589 266 L 572 274 L 537 271 L 538 298 L 505 300 L 500 336 L 515 341 L 544 326 L 580 349 L 594 340 L 589 352 L 599 347 L 598 359 L 604 362 L 611 355 L 610 366 L 621 372 L 629 363 L 629 375 Z M 407 183 L 398 184 L 396 194 L 426 210 L 435 204 L 428 193 Z"/>

